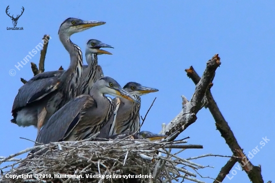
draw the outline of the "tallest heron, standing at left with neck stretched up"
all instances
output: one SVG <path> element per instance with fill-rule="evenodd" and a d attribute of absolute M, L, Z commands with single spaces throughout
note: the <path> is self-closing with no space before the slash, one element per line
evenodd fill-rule
<path fill-rule="evenodd" d="M 82 52 L 71 42 L 70 36 L 104 21 L 84 21 L 78 18 L 65 19 L 58 30 L 61 43 L 70 55 L 68 69 L 59 77 L 37 74 L 18 90 L 12 106 L 11 122 L 18 126 L 37 126 L 37 134 L 49 117 L 76 94 L 82 76 Z"/>

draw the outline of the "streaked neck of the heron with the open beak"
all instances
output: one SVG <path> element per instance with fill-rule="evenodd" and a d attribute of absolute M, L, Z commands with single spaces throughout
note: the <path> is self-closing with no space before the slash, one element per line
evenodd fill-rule
<path fill-rule="evenodd" d="M 96 81 L 97 74 L 97 54 L 96 53 L 85 53 L 85 58 L 88 63 L 87 69 L 83 72 L 81 77 L 78 94 L 89 94 L 91 86 Z"/>

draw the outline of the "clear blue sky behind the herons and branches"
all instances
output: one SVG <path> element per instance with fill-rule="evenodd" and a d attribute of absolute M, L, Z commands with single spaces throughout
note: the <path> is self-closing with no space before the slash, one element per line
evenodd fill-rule
<path fill-rule="evenodd" d="M 5 8 L 10 14 L 24 12 L 17 27 L 12 27 Z M 21 61 L 49 34 L 45 71 L 56 70 L 69 64 L 69 55 L 60 43 L 57 31 L 67 17 L 84 20 L 102 20 L 106 24 L 71 36 L 71 40 L 85 48 L 90 38 L 110 44 L 113 55 L 100 55 L 99 64 L 104 74 L 116 79 L 120 85 L 136 81 L 159 89 L 142 96 L 141 115 L 144 115 L 154 97 L 156 101 L 142 126 L 143 130 L 159 132 L 161 123 L 168 123 L 181 109 L 181 97 L 191 98 L 195 85 L 184 69 L 192 65 L 201 75 L 206 61 L 219 53 L 221 65 L 216 70 L 211 88 L 215 101 L 246 154 L 258 145 L 262 137 L 270 139 L 251 159 L 261 165 L 264 181 L 275 180 L 271 167 L 275 158 L 275 113 L 273 112 L 275 73 L 275 2 L 265 1 L 23 1 L 2 0 L 0 25 L 0 156 L 7 156 L 31 147 L 35 140 L 34 127 L 18 127 L 10 123 L 11 107 L 20 77 L 32 77 L 30 61 L 38 63 L 39 52 L 20 70 Z M 84 60 L 85 62 L 85 60 Z M 14 76 L 9 70 L 15 69 Z M 190 136 L 188 143 L 201 144 L 203 149 L 185 150 L 184 158 L 206 153 L 231 155 L 220 133 L 215 130 L 214 119 L 208 109 L 201 109 L 197 121 L 179 137 Z M 23 156 L 22 156 L 23 157 Z M 216 177 L 226 163 L 225 157 L 205 157 L 194 160 L 202 165 L 214 166 L 199 172 Z M 246 173 L 234 168 L 236 174 L 223 182 L 250 182 Z M 233 172 L 233 173 L 235 173 Z M 205 182 L 211 179 L 200 178 Z"/>

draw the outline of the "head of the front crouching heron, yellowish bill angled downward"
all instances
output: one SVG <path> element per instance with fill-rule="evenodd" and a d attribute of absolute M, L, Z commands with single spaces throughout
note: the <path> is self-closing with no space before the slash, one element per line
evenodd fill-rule
<path fill-rule="evenodd" d="M 101 77 L 94 84 L 100 85 L 98 87 L 98 90 L 102 94 L 110 94 L 113 96 L 123 97 L 130 101 L 139 103 L 139 101 L 137 101 L 131 94 L 129 94 L 127 91 L 125 91 L 118 84 L 118 82 L 111 77 L 107 77 L 107 76 Z"/>

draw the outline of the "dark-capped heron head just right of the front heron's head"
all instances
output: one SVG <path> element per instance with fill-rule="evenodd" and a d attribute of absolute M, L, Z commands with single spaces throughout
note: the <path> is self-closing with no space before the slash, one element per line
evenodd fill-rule
<path fill-rule="evenodd" d="M 123 89 L 128 91 L 130 94 L 134 94 L 134 95 L 138 95 L 138 96 L 140 96 L 142 94 L 147 94 L 147 93 L 158 91 L 158 89 L 142 86 L 141 84 L 139 84 L 137 82 L 128 82 L 126 85 L 124 85 Z"/>

